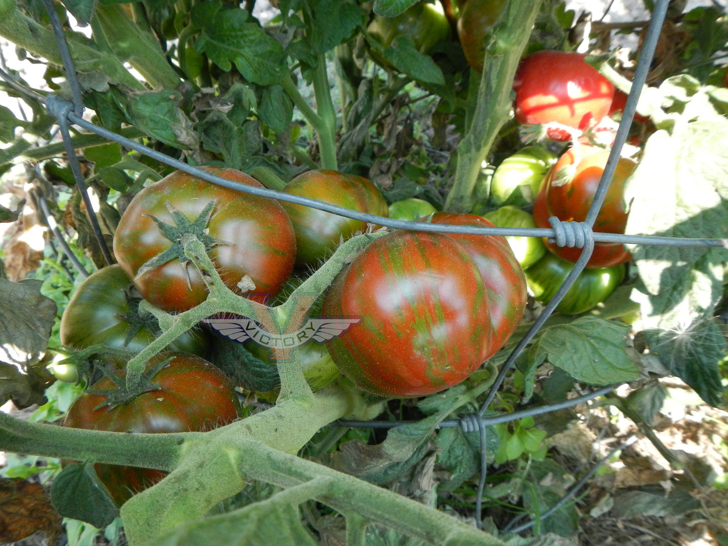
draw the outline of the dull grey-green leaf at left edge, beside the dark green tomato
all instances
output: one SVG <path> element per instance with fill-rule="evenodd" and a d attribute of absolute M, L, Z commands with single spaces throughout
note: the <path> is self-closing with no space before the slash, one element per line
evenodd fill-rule
<path fill-rule="evenodd" d="M 0 279 L 0 360 L 23 367 L 47 349 L 56 305 L 41 294 L 42 284 Z"/>

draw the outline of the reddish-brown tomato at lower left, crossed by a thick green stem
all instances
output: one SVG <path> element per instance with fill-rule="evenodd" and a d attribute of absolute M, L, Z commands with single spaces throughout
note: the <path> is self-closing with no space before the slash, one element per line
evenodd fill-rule
<path fill-rule="evenodd" d="M 181 352 L 160 353 L 151 363 L 170 357 L 172 360 L 151 379 L 159 384 L 159 390 L 145 392 L 113 408 L 99 409 L 94 408 L 106 397 L 85 392 L 68 409 L 64 425 L 111 432 L 197 432 L 237 419 L 240 403 L 218 368 Z M 105 377 L 92 388 L 113 389 L 114 384 Z M 165 476 L 161 470 L 118 465 L 96 464 L 95 469 L 119 505 Z"/>

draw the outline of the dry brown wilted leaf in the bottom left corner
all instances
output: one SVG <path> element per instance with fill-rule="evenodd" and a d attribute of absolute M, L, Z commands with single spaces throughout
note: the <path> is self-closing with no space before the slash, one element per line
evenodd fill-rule
<path fill-rule="evenodd" d="M 0 478 L 0 542 L 16 542 L 46 531 L 48 544 L 60 531 L 60 516 L 39 483 Z"/>

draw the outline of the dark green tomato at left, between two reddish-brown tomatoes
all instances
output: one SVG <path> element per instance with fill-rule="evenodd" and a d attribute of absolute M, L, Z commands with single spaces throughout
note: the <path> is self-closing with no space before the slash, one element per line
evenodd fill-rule
<path fill-rule="evenodd" d="M 139 315 L 139 301 L 141 297 L 119 264 L 99 269 L 76 288 L 68 301 L 60 319 L 61 343 L 76 349 L 103 344 L 140 352 L 154 340 L 159 325 L 151 315 Z M 190 330 L 167 348 L 204 356 L 206 345 L 207 336 L 202 331 Z M 108 358 L 119 367 L 127 363 L 122 357 Z"/>

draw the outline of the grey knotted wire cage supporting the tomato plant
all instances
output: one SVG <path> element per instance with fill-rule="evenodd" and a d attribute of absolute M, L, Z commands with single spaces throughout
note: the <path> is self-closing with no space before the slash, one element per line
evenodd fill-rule
<path fill-rule="evenodd" d="M 226 178 L 221 178 L 219 176 L 207 173 L 205 172 L 205 170 L 201 170 L 197 167 L 189 165 L 186 162 L 180 161 L 157 150 L 151 149 L 148 146 L 144 146 L 138 141 L 133 140 L 133 138 L 127 138 L 124 135 L 112 132 L 105 129 L 104 127 L 100 127 L 98 124 L 87 121 L 87 119 L 84 119 L 83 117 L 84 103 L 82 98 L 82 87 L 79 84 L 76 76 L 74 63 L 71 60 L 71 54 L 68 50 L 65 36 L 63 35 L 63 28 L 60 23 L 58 13 L 55 11 L 55 9 L 53 9 L 52 2 L 50 0 L 46 0 L 45 4 L 48 8 L 48 15 L 50 17 L 50 21 L 58 39 L 60 57 L 63 60 L 63 66 L 66 70 L 66 77 L 70 86 L 72 100 L 66 100 L 65 98 L 62 98 L 60 95 L 55 93 L 47 96 L 39 95 L 38 93 L 33 92 L 33 90 L 30 90 L 22 84 L 18 83 L 12 76 L 7 74 L 7 72 L 5 71 L 0 71 L 0 77 L 4 79 L 9 87 L 12 87 L 12 89 L 14 89 L 21 96 L 30 98 L 31 100 L 36 100 L 39 103 L 43 103 L 47 109 L 47 113 L 50 114 L 50 116 L 52 116 L 52 118 L 54 118 L 58 123 L 58 131 L 60 132 L 60 136 L 63 140 L 63 146 L 65 147 L 68 165 L 74 175 L 76 187 L 84 201 L 85 210 L 87 211 L 89 217 L 92 232 L 95 235 L 98 243 L 98 248 L 100 249 L 103 258 L 105 259 L 106 264 L 113 264 L 114 259 L 112 258 L 111 250 L 108 248 L 108 243 L 103 235 L 96 213 L 94 212 L 95 207 L 90 200 L 91 198 L 89 192 L 87 191 L 86 183 L 84 182 L 82 166 L 79 163 L 78 157 L 76 157 L 76 152 L 74 151 L 74 141 L 71 138 L 71 132 L 69 130 L 69 127 L 71 125 L 75 125 L 76 127 L 79 127 L 80 129 L 85 130 L 88 133 L 98 135 L 99 137 L 106 139 L 108 142 L 118 143 L 122 145 L 124 149 L 137 151 L 138 153 L 143 154 L 146 157 L 154 159 L 158 162 L 162 162 L 163 164 L 173 167 L 175 169 L 182 170 L 185 173 L 189 173 L 190 175 L 194 175 L 195 177 L 201 178 L 202 180 L 208 181 L 210 183 L 214 183 L 218 186 L 241 191 L 246 194 L 253 194 L 256 196 L 277 199 L 279 201 L 289 202 L 296 205 L 312 207 L 328 213 L 333 213 L 347 218 L 371 223 L 373 225 L 384 226 L 391 230 L 407 229 L 421 232 L 451 234 L 549 237 L 550 242 L 555 243 L 555 245 L 558 245 L 559 247 L 581 249 L 581 253 L 576 264 L 574 264 L 573 269 L 571 269 L 571 272 L 569 272 L 566 280 L 564 280 L 561 287 L 558 288 L 555 296 L 551 299 L 549 303 L 545 305 L 545 308 L 534 321 L 534 324 L 531 326 L 529 331 L 527 331 L 521 337 L 520 341 L 515 344 L 515 347 L 513 347 L 513 349 L 510 351 L 510 354 L 507 356 L 506 360 L 500 365 L 499 372 L 497 373 L 493 384 L 488 389 L 485 400 L 480 405 L 478 411 L 473 414 L 461 415 L 457 419 L 444 419 L 437 425 L 437 428 L 459 427 L 463 432 L 475 432 L 479 435 L 480 479 L 478 482 L 478 492 L 475 499 L 475 521 L 479 529 L 482 529 L 482 521 L 480 519 L 480 515 L 482 514 L 483 491 L 486 485 L 487 478 L 488 435 L 494 433 L 492 432 L 491 427 L 495 424 L 513 422 L 518 419 L 523 419 L 524 417 L 546 414 L 548 412 L 556 411 L 558 409 L 569 408 L 580 403 L 585 403 L 588 400 L 593 400 L 598 397 L 607 395 L 609 392 L 612 392 L 614 389 L 617 389 L 620 386 L 615 384 L 608 384 L 599 389 L 595 389 L 592 392 L 588 392 L 585 395 L 566 400 L 562 403 L 542 405 L 537 408 L 529 408 L 525 411 L 515 411 L 511 414 L 493 416 L 491 415 L 492 412 L 489 411 L 489 408 L 491 408 L 494 397 L 496 396 L 499 387 L 502 386 L 507 374 L 513 371 L 514 365 L 519 355 L 521 355 L 524 349 L 529 346 L 529 343 L 531 343 L 531 341 L 534 339 L 534 336 L 536 336 L 539 332 L 539 329 L 542 328 L 542 326 L 546 323 L 547 319 L 554 312 L 569 288 L 574 285 L 574 282 L 575 280 L 577 280 L 577 277 L 579 277 L 579 274 L 584 271 L 587 261 L 589 261 L 590 257 L 593 254 L 595 243 L 609 242 L 617 243 L 620 245 L 654 245 L 662 247 L 681 248 L 728 248 L 728 239 L 657 237 L 646 235 L 613 234 L 593 231 L 596 217 L 602 204 L 604 203 L 607 190 L 609 189 L 609 181 L 612 180 L 612 176 L 614 175 L 614 171 L 617 167 L 617 162 L 620 159 L 620 151 L 622 150 L 622 147 L 625 145 L 625 142 L 628 139 L 630 123 L 632 122 L 633 117 L 636 114 L 638 99 L 645 86 L 647 74 L 650 69 L 650 63 L 652 62 L 654 50 L 657 46 L 657 41 L 660 36 L 660 29 L 662 28 L 662 23 L 665 20 L 665 14 L 668 10 L 668 0 L 657 0 L 654 7 L 654 12 L 652 13 L 649 28 L 644 37 L 642 54 L 638 60 L 636 71 L 633 76 L 631 91 L 628 94 L 628 98 L 624 106 L 622 119 L 616 136 L 614 137 L 614 144 L 609 154 L 609 159 L 606 163 L 606 167 L 604 168 L 604 174 L 601 177 L 601 182 L 599 183 L 598 190 L 596 191 L 595 197 L 593 199 L 593 204 L 590 206 L 586 220 L 583 222 L 567 222 L 561 221 L 556 217 L 552 217 L 549 218 L 551 229 L 501 227 L 476 228 L 470 226 L 448 225 L 443 223 L 435 224 L 420 223 L 414 221 L 400 221 L 390 218 L 384 218 L 378 215 L 360 213 L 355 210 L 349 210 L 344 207 L 332 205 L 328 202 L 309 199 L 306 197 L 298 197 L 296 195 L 288 194 L 282 191 L 275 191 L 263 187 L 250 186 L 243 183 L 237 183 Z M 39 176 L 41 175 L 38 167 L 36 167 L 36 173 Z M 82 266 L 82 264 L 79 264 L 79 262 L 77 261 L 73 251 L 68 248 L 63 233 L 60 232 L 58 227 L 55 225 L 55 221 L 52 220 L 52 213 L 48 209 L 47 202 L 45 201 L 44 197 L 41 194 L 36 194 L 35 197 L 39 203 L 41 212 L 47 220 L 48 226 L 54 234 L 55 241 L 58 242 L 58 244 L 61 246 L 63 252 L 66 253 L 68 258 L 71 260 L 71 263 L 78 270 L 79 274 L 83 275 L 84 277 L 88 276 L 88 273 L 84 271 L 84 267 Z M 409 423 L 411 422 L 376 422 L 339 419 L 336 422 L 333 422 L 332 426 L 389 429 L 392 427 L 403 426 Z M 0 435 L 0 440 L 1 438 L 2 436 Z M 558 510 L 559 507 L 563 506 L 564 503 L 569 502 L 570 499 L 572 499 L 579 493 L 581 488 L 585 485 L 585 483 L 587 483 L 587 480 L 589 480 L 595 474 L 595 472 L 599 469 L 599 467 L 601 467 L 602 464 L 604 464 L 604 462 L 606 462 L 617 451 L 622 451 L 626 446 L 629 446 L 630 443 L 633 443 L 634 440 L 634 438 L 628 438 L 619 446 L 612 449 L 612 451 L 610 451 L 609 454 L 604 457 L 604 459 L 601 459 L 600 462 L 598 462 L 577 483 L 575 483 L 574 486 L 569 489 L 566 496 L 563 496 L 563 498 L 559 500 L 555 505 L 553 505 L 553 507 L 551 507 L 550 510 L 548 510 L 546 513 L 542 513 L 539 519 L 534 518 L 531 521 L 523 522 L 523 517 L 515 518 L 513 519 L 513 521 L 510 522 L 505 531 L 510 531 L 511 533 L 515 534 L 526 531 L 534 525 L 537 525 L 539 521 L 542 521 L 543 519 L 555 513 L 555 511 Z M 2 447 L 3 446 L 0 441 L 0 448 Z"/>

